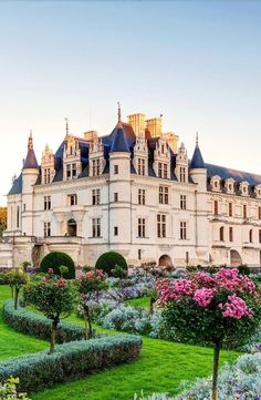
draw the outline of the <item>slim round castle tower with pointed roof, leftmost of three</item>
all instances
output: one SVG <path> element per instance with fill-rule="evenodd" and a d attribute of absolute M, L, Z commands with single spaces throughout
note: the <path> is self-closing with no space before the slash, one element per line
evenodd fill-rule
<path fill-rule="evenodd" d="M 33 150 L 32 133 L 28 140 L 28 154 L 22 168 L 22 234 L 33 236 L 33 185 L 39 177 L 39 165 Z"/>

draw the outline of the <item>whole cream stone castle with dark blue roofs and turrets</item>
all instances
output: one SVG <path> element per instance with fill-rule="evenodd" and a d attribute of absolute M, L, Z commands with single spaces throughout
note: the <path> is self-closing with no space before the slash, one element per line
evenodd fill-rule
<path fill-rule="evenodd" d="M 129 265 L 261 264 L 261 175 L 191 160 L 161 116 L 118 121 L 111 134 L 69 132 L 39 165 L 30 135 L 8 194 L 0 266 L 67 253 L 94 265 L 109 249 Z"/>

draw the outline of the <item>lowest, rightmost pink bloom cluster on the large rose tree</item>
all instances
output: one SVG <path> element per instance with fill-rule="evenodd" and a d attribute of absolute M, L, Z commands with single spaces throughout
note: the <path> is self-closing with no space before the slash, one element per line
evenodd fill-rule
<path fill-rule="evenodd" d="M 223 317 L 240 319 L 242 317 L 251 318 L 253 316 L 253 311 L 247 307 L 246 301 L 237 295 L 228 296 L 228 300 L 225 305 L 219 304 Z"/>

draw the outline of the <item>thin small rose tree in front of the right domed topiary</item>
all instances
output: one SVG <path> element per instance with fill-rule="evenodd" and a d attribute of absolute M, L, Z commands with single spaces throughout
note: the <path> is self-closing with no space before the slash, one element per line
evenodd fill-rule
<path fill-rule="evenodd" d="M 94 296 L 98 301 L 100 293 L 106 288 L 106 275 L 101 269 L 82 274 L 79 278 L 80 304 L 84 312 L 86 340 L 93 337 L 90 300 Z"/>

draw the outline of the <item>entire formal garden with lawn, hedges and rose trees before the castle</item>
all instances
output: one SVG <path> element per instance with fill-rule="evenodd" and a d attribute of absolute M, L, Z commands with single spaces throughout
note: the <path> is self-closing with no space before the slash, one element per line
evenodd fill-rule
<path fill-rule="evenodd" d="M 65 256 L 0 274 L 1 400 L 261 399 L 259 276 Z"/>

